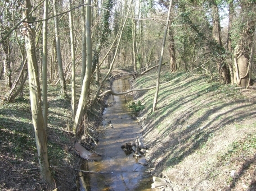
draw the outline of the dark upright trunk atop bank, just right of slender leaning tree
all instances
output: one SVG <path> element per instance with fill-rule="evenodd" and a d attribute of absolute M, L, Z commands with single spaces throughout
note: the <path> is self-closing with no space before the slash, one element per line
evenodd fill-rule
<path fill-rule="evenodd" d="M 177 71 L 176 55 L 174 48 L 174 31 L 169 27 L 169 56 L 170 56 L 170 72 Z"/>

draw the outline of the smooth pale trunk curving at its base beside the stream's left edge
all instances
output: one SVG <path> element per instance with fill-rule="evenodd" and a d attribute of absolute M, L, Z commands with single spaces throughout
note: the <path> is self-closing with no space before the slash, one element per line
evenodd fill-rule
<path fill-rule="evenodd" d="M 87 61 L 86 61 L 86 76 L 84 76 L 81 95 L 75 115 L 73 131 L 78 133 L 79 125 L 82 122 L 82 116 L 87 103 L 87 92 L 91 81 L 92 72 L 92 36 L 91 36 L 91 0 L 86 1 L 86 46 L 87 46 Z"/>

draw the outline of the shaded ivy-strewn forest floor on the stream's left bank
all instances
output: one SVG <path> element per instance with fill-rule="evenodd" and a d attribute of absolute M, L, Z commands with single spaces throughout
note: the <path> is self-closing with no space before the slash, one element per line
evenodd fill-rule
<path fill-rule="evenodd" d="M 116 76 L 122 73 L 124 71 L 113 72 Z M 114 78 L 104 84 L 104 90 L 110 88 Z M 80 82 L 77 79 L 77 104 Z M 0 100 L 3 100 L 8 92 L 1 84 L 0 90 Z M 82 137 L 79 139 L 69 133 L 72 129 L 70 83 L 67 90 L 68 95 L 62 96 L 60 85 L 48 85 L 48 159 L 55 179 L 54 187 L 63 191 L 77 190 L 78 173 L 74 169 L 79 169 L 80 158 L 73 152 L 75 141 L 89 144 L 91 139 L 88 131 L 80 132 Z M 93 85 L 91 95 L 95 95 L 96 90 Z M 102 121 L 104 99 L 106 97 L 95 105 L 90 104 L 84 116 L 82 125 L 92 131 Z M 92 132 L 89 134 L 94 136 Z M 42 181 L 39 173 L 28 84 L 24 87 L 23 97 L 18 97 L 12 103 L 0 102 L 0 190 L 53 190 Z"/>

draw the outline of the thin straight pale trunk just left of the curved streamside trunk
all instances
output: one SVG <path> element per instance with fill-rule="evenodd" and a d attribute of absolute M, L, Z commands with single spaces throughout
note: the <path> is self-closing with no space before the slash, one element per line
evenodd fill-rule
<path fill-rule="evenodd" d="M 69 0 L 69 10 L 72 8 L 72 0 Z M 72 79 L 71 79 L 71 110 L 72 120 L 75 121 L 75 45 L 74 45 L 74 26 L 73 26 L 73 11 L 69 11 L 69 30 L 70 30 L 70 45 L 71 45 L 71 60 L 72 60 Z"/>

